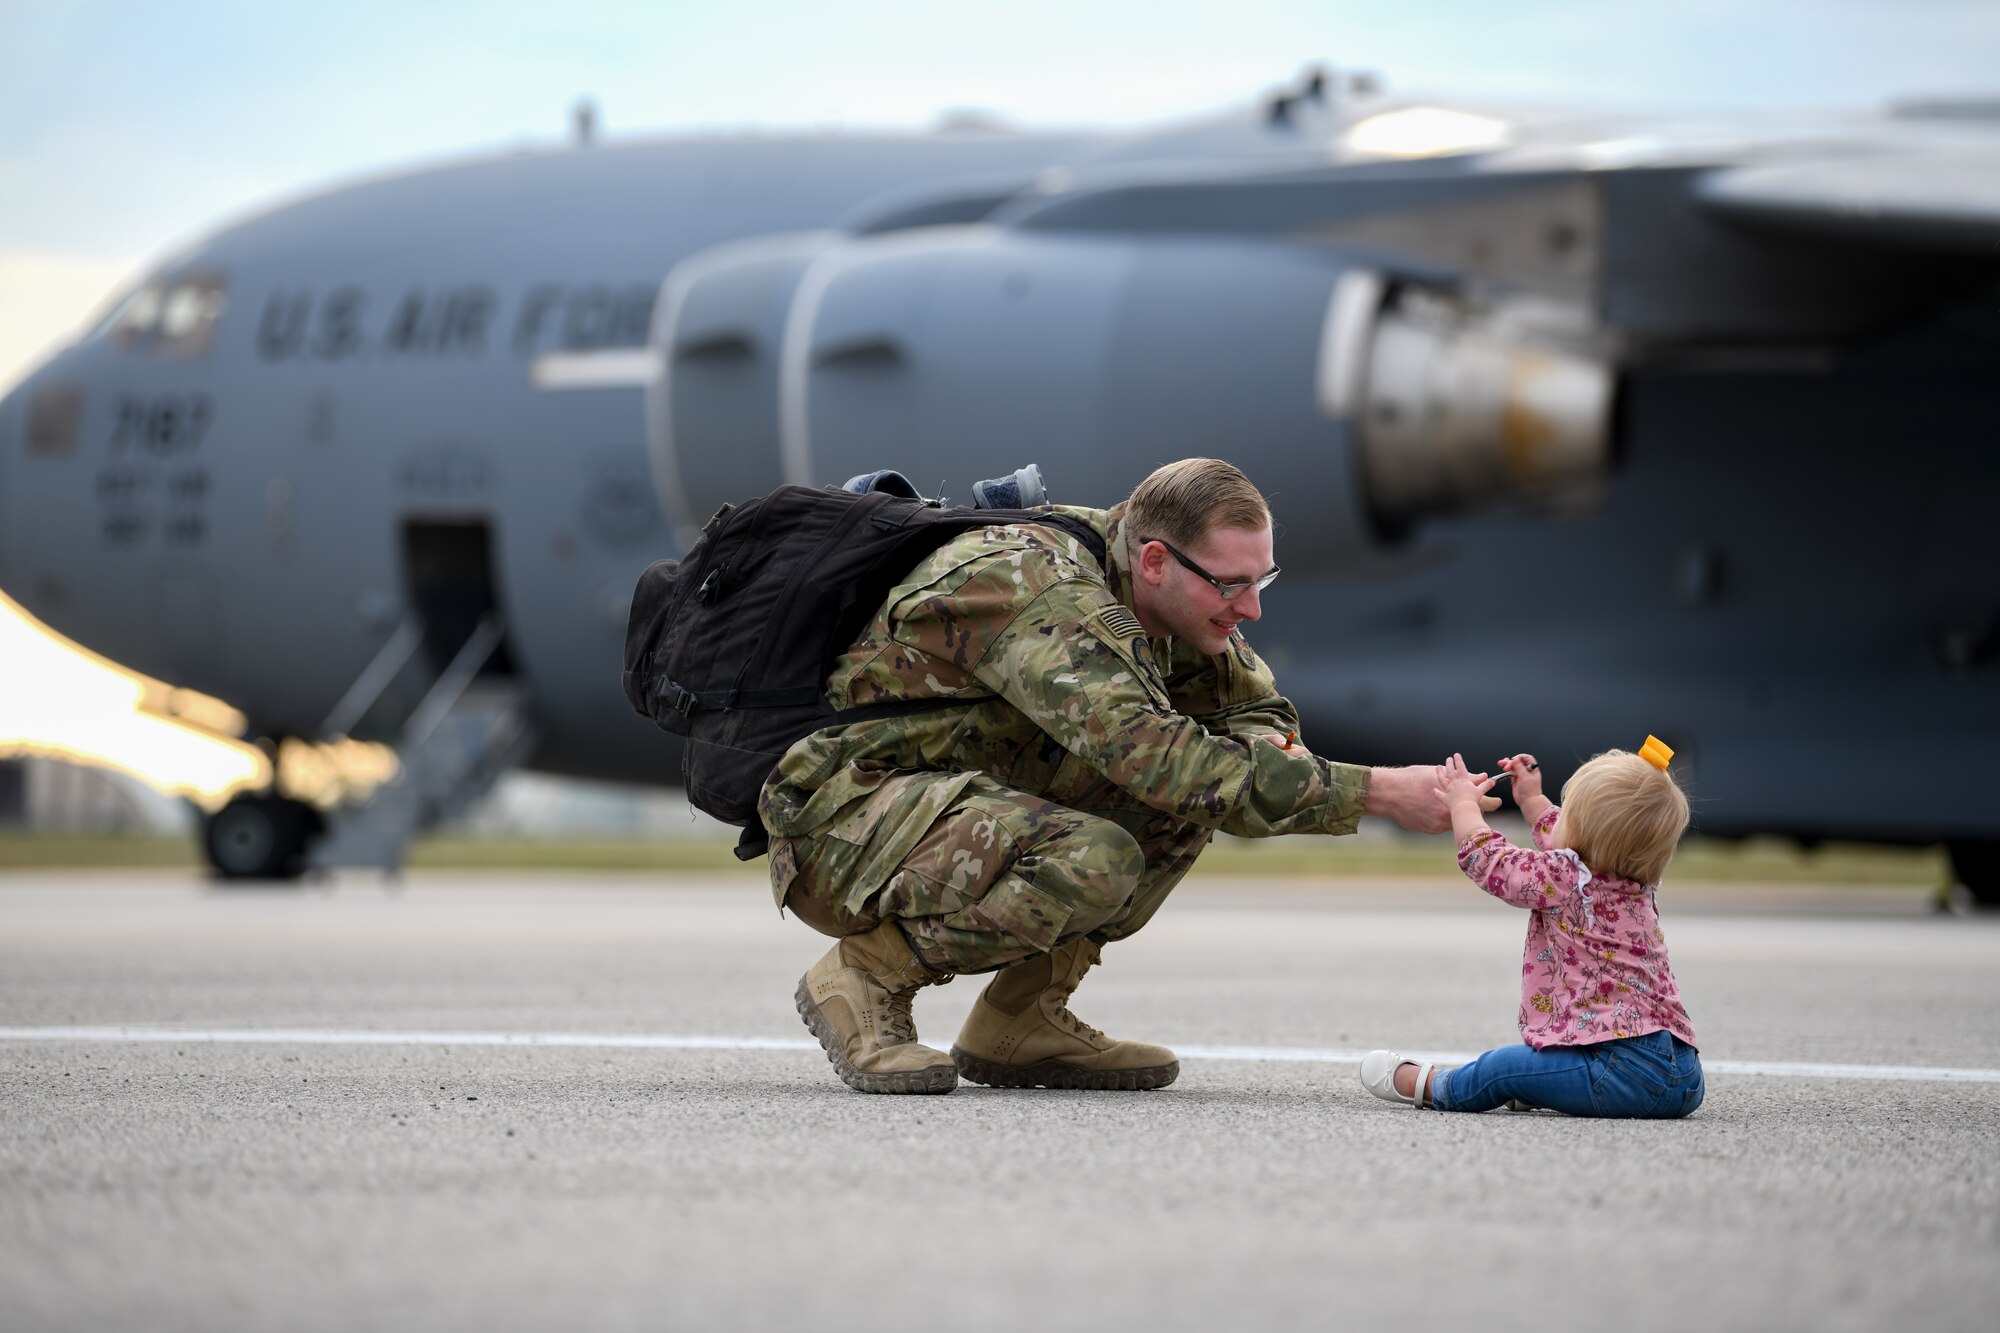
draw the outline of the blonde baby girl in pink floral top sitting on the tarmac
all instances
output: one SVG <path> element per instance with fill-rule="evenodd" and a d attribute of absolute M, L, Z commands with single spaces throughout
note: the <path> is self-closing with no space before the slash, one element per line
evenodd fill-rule
<path fill-rule="evenodd" d="M 1458 867 L 1486 893 L 1528 909 L 1520 1035 L 1526 1045 L 1436 1069 L 1370 1051 L 1362 1087 L 1438 1111 L 1548 1107 L 1568 1115 L 1680 1117 L 1702 1105 L 1702 1061 L 1666 961 L 1656 893 L 1688 827 L 1688 799 L 1652 737 L 1640 755 L 1606 751 L 1542 795 L 1534 755 L 1502 759 L 1536 851 L 1486 827 L 1498 779 L 1454 755 L 1438 801 L 1452 813 Z"/>

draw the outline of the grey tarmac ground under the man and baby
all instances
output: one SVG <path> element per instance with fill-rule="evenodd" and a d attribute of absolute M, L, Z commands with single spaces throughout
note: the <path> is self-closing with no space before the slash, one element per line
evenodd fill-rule
<path fill-rule="evenodd" d="M 1170 1089 L 862 1097 L 756 879 L 0 875 L 0 1327 L 1990 1329 L 2000 919 L 1662 915 L 1708 1103 L 1608 1123 L 1360 1089 L 1514 1039 L 1454 877 L 1186 885 L 1076 999 Z"/>

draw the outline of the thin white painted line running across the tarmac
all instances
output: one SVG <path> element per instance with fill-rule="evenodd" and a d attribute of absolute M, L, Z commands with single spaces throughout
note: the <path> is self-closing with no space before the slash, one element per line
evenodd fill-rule
<path fill-rule="evenodd" d="M 820 1043 L 796 1037 L 678 1037 L 668 1033 L 398 1033 L 320 1027 L 0 1027 L 0 1041 L 150 1041 L 150 1043 L 256 1043 L 280 1047 L 622 1047 L 640 1051 L 818 1051 Z M 1360 1065 L 1366 1051 L 1312 1047 L 1180 1047 L 1196 1061 L 1252 1061 L 1292 1065 Z M 1406 1051 L 1440 1065 L 1462 1065 L 1476 1051 Z M 1934 1065 L 1814 1065 L 1788 1061 L 1702 1061 L 1706 1073 L 1762 1075 L 1770 1079 L 1874 1079 L 1898 1083 L 2000 1083 L 2000 1069 L 1944 1069 Z"/>

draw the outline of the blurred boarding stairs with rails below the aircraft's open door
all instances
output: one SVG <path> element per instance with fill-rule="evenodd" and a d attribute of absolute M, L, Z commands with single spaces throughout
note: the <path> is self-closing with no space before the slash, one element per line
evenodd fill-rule
<path fill-rule="evenodd" d="M 308 867 L 376 867 L 398 873 L 410 841 L 462 815 L 492 791 L 534 747 L 528 695 L 512 679 L 480 677 L 500 648 L 504 624 L 484 616 L 438 675 L 396 741 L 400 771 L 358 805 L 326 815 L 326 833 L 308 851 Z M 406 620 L 354 681 L 322 725 L 348 735 L 404 671 L 424 640 L 422 620 Z"/>

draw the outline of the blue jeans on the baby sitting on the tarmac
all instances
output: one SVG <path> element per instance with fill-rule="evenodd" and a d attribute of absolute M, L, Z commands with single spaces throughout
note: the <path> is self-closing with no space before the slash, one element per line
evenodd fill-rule
<path fill-rule="evenodd" d="M 1564 1115 L 1678 1119 L 1702 1105 L 1702 1055 L 1672 1033 L 1590 1047 L 1500 1047 L 1430 1081 L 1438 1111 L 1492 1111 L 1506 1101 Z"/>

